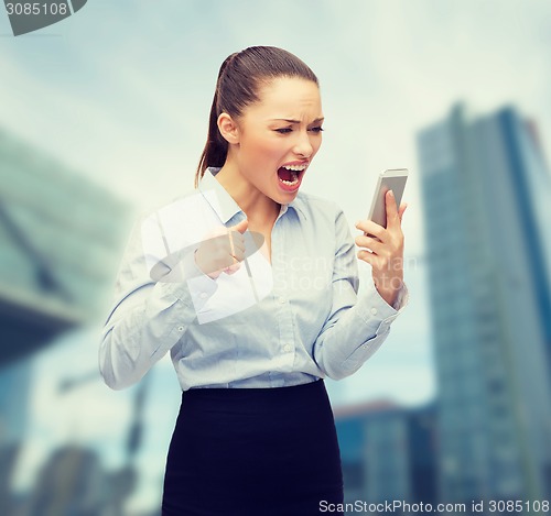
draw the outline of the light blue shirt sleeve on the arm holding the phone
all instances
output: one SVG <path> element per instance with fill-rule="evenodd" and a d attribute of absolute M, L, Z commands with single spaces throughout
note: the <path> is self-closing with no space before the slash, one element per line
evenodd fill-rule
<path fill-rule="evenodd" d="M 341 210 L 335 237 L 332 309 L 314 344 L 314 360 L 328 377 L 341 380 L 355 373 L 380 348 L 392 321 L 408 304 L 409 294 L 402 284 L 390 306 L 370 282 L 358 297 L 355 243 Z"/>

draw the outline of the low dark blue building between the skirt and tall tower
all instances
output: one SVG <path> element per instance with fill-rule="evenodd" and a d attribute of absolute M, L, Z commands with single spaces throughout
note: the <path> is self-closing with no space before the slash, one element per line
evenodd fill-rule
<path fill-rule="evenodd" d="M 435 417 L 434 404 L 403 408 L 369 402 L 336 408 L 345 502 L 434 503 Z"/>

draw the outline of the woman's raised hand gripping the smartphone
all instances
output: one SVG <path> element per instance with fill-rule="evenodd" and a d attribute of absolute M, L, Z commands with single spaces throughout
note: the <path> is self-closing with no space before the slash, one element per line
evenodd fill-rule
<path fill-rule="evenodd" d="M 372 220 L 359 220 L 356 228 L 364 232 L 356 237 L 358 259 L 371 265 L 375 287 L 381 297 L 393 305 L 403 282 L 402 216 L 407 204 L 396 206 L 392 190 L 387 191 L 387 228 Z M 369 235 L 369 237 L 368 237 Z"/>

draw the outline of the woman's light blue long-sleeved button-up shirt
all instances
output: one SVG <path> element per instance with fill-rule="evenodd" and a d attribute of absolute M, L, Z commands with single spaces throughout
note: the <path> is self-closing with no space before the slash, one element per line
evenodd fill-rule
<path fill-rule="evenodd" d="M 248 257 L 235 274 L 206 276 L 194 251 L 245 218 L 217 172 L 207 169 L 197 190 L 134 226 L 101 336 L 105 382 L 129 386 L 169 351 L 183 391 L 353 374 L 387 338 L 407 304 L 406 285 L 395 307 L 372 282 L 358 297 L 356 249 L 343 211 L 304 193 L 281 206 L 271 264 L 246 239 Z"/>

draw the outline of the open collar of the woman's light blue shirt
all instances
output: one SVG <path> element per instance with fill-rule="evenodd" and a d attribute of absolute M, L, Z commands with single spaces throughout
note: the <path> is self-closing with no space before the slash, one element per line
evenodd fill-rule
<path fill-rule="evenodd" d="M 223 223 L 227 223 L 237 213 L 242 213 L 242 210 L 239 208 L 239 205 L 234 200 L 234 198 L 227 193 L 226 188 L 224 188 L 216 179 L 215 176 L 219 171 L 220 167 L 208 167 L 201 178 L 198 189 L 216 215 L 220 218 Z M 216 199 L 216 201 L 214 201 L 212 196 L 206 195 L 208 191 L 215 193 L 214 199 Z M 279 217 L 282 217 L 289 208 L 292 208 L 298 215 L 306 218 L 304 199 L 300 195 L 298 195 L 291 202 L 281 205 Z"/>

